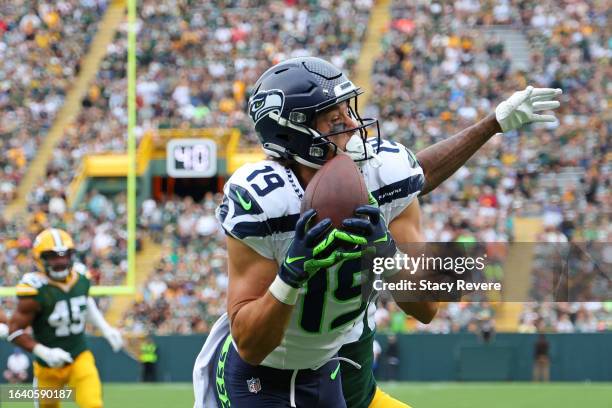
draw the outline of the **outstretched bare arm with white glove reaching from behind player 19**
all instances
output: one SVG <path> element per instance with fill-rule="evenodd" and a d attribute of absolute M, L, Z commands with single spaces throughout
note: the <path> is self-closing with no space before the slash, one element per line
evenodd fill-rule
<path fill-rule="evenodd" d="M 496 133 L 520 129 L 529 123 L 554 122 L 554 115 L 536 112 L 558 108 L 559 102 L 552 99 L 561 93 L 561 89 L 529 86 L 497 105 L 495 113 L 418 152 L 416 156 L 425 174 L 421 195 L 429 193 L 452 176 Z"/>

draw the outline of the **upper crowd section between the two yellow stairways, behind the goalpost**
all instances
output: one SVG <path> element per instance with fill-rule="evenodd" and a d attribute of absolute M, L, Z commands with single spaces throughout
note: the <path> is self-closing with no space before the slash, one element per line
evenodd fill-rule
<path fill-rule="evenodd" d="M 266 67 L 319 53 L 350 70 L 372 2 L 286 3 L 290 7 L 260 0 L 144 1 L 138 9 L 137 137 L 168 127 L 235 127 L 243 144 L 255 145 L 246 92 Z M 86 154 L 125 151 L 126 61 L 124 26 L 57 147 L 68 161 L 62 172 L 67 183 Z"/>

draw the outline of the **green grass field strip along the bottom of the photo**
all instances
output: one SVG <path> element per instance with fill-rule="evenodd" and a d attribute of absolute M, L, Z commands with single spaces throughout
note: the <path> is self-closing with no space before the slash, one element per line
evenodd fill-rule
<path fill-rule="evenodd" d="M 414 408 L 612 407 L 612 383 L 386 383 L 382 387 Z M 193 394 L 191 384 L 105 384 L 104 402 L 106 408 L 191 407 Z M 31 403 L 0 402 L 0 406 L 23 408 Z"/>

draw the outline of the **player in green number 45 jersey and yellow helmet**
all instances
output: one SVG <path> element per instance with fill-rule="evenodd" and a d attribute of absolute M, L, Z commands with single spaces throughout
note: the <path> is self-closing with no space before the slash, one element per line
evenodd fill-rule
<path fill-rule="evenodd" d="M 67 385 L 74 389 L 79 407 L 102 407 L 102 386 L 85 341 L 85 324 L 99 328 L 115 352 L 123 346 L 121 334 L 89 296 L 87 269 L 74 262 L 74 243 L 67 232 L 45 229 L 34 240 L 32 252 L 39 271 L 25 274 L 17 285 L 17 308 L 7 340 L 34 354 L 35 387 Z M 33 337 L 25 332 L 29 326 Z M 40 400 L 40 406 L 58 407 L 59 402 Z"/>

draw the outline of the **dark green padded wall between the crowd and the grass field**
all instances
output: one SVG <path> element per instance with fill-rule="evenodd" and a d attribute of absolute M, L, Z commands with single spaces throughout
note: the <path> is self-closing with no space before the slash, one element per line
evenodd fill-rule
<path fill-rule="evenodd" d="M 552 381 L 612 381 L 612 332 L 548 334 Z M 193 363 L 204 336 L 158 336 L 159 381 L 190 382 Z M 399 335 L 400 381 L 530 381 L 534 334 L 498 334 L 483 343 L 469 333 Z M 383 350 L 386 337 L 378 335 Z M 102 381 L 140 379 L 140 364 L 111 351 L 106 340 L 89 338 Z M 0 341 L 0 372 L 13 346 Z M 385 378 L 385 367 L 378 371 Z M 0 378 L 4 382 L 4 378 Z"/>

